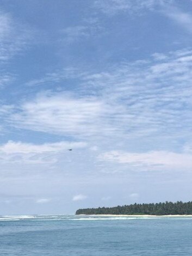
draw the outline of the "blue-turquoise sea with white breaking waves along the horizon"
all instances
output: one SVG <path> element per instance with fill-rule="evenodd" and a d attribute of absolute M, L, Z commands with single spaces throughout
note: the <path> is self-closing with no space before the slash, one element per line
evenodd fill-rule
<path fill-rule="evenodd" d="M 192 218 L 0 216 L 0 255 L 192 255 Z"/>

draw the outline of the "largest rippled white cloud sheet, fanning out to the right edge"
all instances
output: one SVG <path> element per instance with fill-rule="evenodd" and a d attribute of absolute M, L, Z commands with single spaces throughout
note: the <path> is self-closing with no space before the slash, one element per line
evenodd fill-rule
<path fill-rule="evenodd" d="M 189 137 L 192 51 L 154 53 L 105 72 L 70 72 L 77 92 L 42 93 L 4 111 L 11 126 L 73 138 Z M 58 74 L 58 75 L 57 75 Z M 62 72 L 42 78 L 42 84 Z M 86 93 L 85 93 L 86 92 Z M 94 95 L 94 96 L 92 96 Z"/>

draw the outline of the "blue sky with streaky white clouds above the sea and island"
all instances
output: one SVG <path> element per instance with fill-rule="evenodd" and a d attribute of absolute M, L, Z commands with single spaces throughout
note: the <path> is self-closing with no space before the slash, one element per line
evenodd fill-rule
<path fill-rule="evenodd" d="M 0 70 L 1 215 L 191 200 L 191 0 L 1 0 Z"/>

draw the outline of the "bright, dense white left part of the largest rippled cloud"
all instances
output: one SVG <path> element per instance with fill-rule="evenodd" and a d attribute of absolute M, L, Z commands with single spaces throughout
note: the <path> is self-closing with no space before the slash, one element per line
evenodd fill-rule
<path fill-rule="evenodd" d="M 120 110 L 120 107 L 118 107 Z M 96 97 L 76 97 L 59 93 L 40 96 L 24 103 L 20 112 L 10 117 L 16 127 L 63 135 L 87 137 L 110 133 L 108 115 L 118 111 Z"/>

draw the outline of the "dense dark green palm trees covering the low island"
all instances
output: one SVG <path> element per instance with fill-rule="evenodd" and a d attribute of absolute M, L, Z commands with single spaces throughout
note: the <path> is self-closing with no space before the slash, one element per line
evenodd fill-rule
<path fill-rule="evenodd" d="M 79 209 L 76 215 L 115 214 L 115 215 L 189 215 L 192 214 L 192 202 L 165 202 L 152 204 L 131 204 L 116 207 Z"/>

